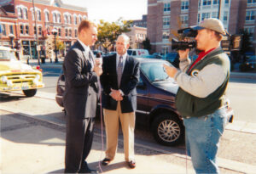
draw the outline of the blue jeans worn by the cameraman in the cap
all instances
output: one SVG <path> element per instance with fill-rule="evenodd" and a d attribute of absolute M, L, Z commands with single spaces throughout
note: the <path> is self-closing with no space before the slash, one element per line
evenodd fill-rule
<path fill-rule="evenodd" d="M 219 140 L 227 123 L 226 109 L 183 120 L 186 148 L 196 173 L 219 173 L 216 163 Z"/>

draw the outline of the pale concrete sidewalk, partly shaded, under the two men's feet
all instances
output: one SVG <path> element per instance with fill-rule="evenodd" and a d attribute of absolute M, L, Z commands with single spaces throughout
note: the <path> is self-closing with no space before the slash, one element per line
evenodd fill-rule
<path fill-rule="evenodd" d="M 22 115 L 0 110 L 1 156 L 3 173 L 63 173 L 65 155 L 65 128 L 45 125 L 44 121 L 32 121 Z M 120 148 L 119 148 L 120 149 Z M 161 154 L 137 152 L 137 167 L 130 169 L 119 150 L 109 166 L 101 166 L 104 173 L 186 173 L 185 164 L 178 166 L 165 160 Z M 101 135 L 96 134 L 88 157 L 91 168 L 101 171 L 99 161 L 104 158 Z M 188 160 L 189 163 L 189 160 Z M 188 173 L 195 173 L 189 165 Z"/>

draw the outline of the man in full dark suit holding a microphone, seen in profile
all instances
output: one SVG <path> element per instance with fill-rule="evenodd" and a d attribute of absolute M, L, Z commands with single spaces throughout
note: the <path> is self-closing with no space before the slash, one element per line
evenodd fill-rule
<path fill-rule="evenodd" d="M 63 71 L 66 77 L 64 107 L 67 111 L 66 173 L 93 173 L 86 163 L 90 153 L 96 102 L 99 88 L 97 82 L 102 65 L 93 59 L 90 46 L 97 40 L 96 25 L 88 20 L 79 25 L 79 39 L 69 49 Z"/>

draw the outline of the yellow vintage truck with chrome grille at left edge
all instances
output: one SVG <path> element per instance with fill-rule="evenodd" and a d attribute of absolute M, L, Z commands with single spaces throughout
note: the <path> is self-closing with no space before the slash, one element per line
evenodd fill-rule
<path fill-rule="evenodd" d="M 0 46 L 0 92 L 22 90 L 26 97 L 32 97 L 41 87 L 42 72 L 17 60 L 13 49 Z"/>

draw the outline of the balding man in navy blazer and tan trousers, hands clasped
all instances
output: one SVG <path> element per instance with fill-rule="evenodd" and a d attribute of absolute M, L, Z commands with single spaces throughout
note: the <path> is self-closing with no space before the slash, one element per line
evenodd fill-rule
<path fill-rule="evenodd" d="M 102 106 L 107 134 L 107 166 L 117 150 L 119 121 L 124 135 L 125 160 L 131 168 L 136 166 L 134 156 L 136 87 L 139 81 L 139 62 L 127 54 L 129 37 L 120 35 L 116 42 L 117 54 L 103 59 L 101 83 Z"/>

